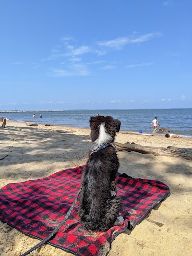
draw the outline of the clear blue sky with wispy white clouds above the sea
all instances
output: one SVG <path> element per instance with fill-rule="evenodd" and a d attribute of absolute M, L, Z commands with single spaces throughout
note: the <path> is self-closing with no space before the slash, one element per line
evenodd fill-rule
<path fill-rule="evenodd" d="M 0 110 L 192 108 L 191 0 L 1 0 Z"/>

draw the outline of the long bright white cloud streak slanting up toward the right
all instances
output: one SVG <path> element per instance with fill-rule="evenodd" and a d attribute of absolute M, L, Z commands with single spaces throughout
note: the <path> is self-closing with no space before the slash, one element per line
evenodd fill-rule
<path fill-rule="evenodd" d="M 127 44 L 133 43 L 142 43 L 148 40 L 151 40 L 156 37 L 161 37 L 162 34 L 159 32 L 149 33 L 141 36 L 134 35 L 132 37 L 119 37 L 116 39 L 108 40 L 108 41 L 98 41 L 96 44 L 98 46 L 110 47 L 114 49 L 122 49 L 123 46 Z"/>

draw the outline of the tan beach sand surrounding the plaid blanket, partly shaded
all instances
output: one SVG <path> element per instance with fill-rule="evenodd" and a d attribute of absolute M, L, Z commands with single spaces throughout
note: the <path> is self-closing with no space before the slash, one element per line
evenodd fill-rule
<path fill-rule="evenodd" d="M 62 134 L 57 131 L 68 133 Z M 143 146 L 191 148 L 192 139 L 166 138 L 144 134 L 116 136 L 120 143 Z M 81 128 L 26 126 L 7 121 L 0 127 L 0 187 L 8 183 L 47 177 L 57 171 L 84 165 L 91 148 L 90 130 Z M 170 195 L 159 203 L 132 231 L 121 233 L 108 256 L 190 256 L 192 255 L 192 161 L 119 151 L 120 172 L 135 178 L 160 180 Z M 163 225 L 159 226 L 160 222 Z M 39 242 L 0 222 L 0 255 L 19 256 Z M 71 253 L 43 245 L 31 256 L 71 256 Z"/>

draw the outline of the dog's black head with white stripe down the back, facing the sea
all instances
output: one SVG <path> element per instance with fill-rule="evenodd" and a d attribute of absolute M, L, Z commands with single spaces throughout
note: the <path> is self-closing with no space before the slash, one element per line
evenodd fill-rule
<path fill-rule="evenodd" d="M 111 116 L 90 117 L 91 141 L 95 146 L 112 143 L 116 132 L 120 131 L 120 121 Z"/>

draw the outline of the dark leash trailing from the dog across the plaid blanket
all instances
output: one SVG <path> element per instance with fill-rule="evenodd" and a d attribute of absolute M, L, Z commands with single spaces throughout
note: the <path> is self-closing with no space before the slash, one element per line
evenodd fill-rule
<path fill-rule="evenodd" d="M 65 218 L 60 222 L 59 226 L 57 226 L 57 228 L 55 228 L 53 230 L 53 232 L 51 232 L 48 237 L 46 237 L 44 240 L 42 240 L 40 243 L 36 244 L 34 247 L 32 247 L 31 249 L 29 249 L 27 252 L 25 252 L 24 254 L 22 254 L 21 256 L 25 256 L 27 254 L 29 254 L 30 252 L 36 250 L 36 248 L 38 248 L 39 246 L 41 246 L 42 244 L 45 244 L 46 242 L 48 242 L 48 240 L 53 237 L 57 232 L 58 230 L 62 227 L 62 225 L 65 223 L 66 219 L 68 219 L 69 215 L 71 214 L 76 202 L 77 202 L 77 199 L 78 199 L 78 196 L 79 196 L 79 193 L 81 191 L 81 188 L 82 188 L 82 183 L 81 183 L 81 186 L 79 188 L 79 191 L 75 197 L 75 200 L 73 201 L 72 203 L 72 206 L 70 207 L 68 213 L 65 215 Z"/>

